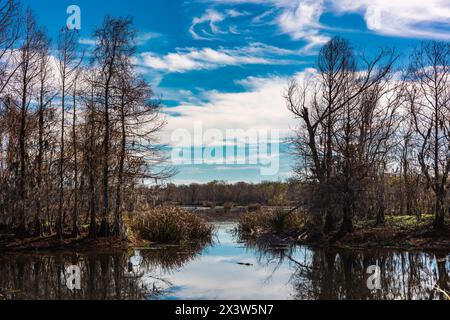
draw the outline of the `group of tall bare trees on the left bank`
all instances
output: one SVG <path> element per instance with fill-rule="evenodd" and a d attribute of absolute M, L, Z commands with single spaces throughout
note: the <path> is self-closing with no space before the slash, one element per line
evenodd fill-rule
<path fill-rule="evenodd" d="M 171 174 L 155 171 L 164 121 L 133 69 L 135 35 L 130 19 L 108 16 L 82 50 L 76 30 L 52 41 L 30 9 L 1 1 L 0 226 L 119 236 L 133 188 Z"/>

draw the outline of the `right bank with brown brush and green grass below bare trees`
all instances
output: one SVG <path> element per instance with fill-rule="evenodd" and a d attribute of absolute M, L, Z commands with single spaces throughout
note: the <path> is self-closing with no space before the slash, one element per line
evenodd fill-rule
<path fill-rule="evenodd" d="M 261 245 L 450 252 L 450 228 L 437 233 L 432 228 L 430 216 L 422 217 L 420 222 L 410 216 L 386 217 L 386 223 L 382 226 L 375 226 L 375 221 L 370 220 L 356 222 L 354 231 L 345 235 L 338 231 L 325 235 L 313 225 L 305 224 L 299 217 L 291 216 L 288 218 L 291 221 L 285 219 L 286 216 L 274 213 L 247 215 L 240 220 L 238 233 L 243 240 Z"/>

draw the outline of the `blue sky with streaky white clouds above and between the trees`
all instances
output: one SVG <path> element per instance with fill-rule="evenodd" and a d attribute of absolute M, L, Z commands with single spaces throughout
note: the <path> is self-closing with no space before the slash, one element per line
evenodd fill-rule
<path fill-rule="evenodd" d="M 450 40 L 450 0 L 22 1 L 53 38 L 77 5 L 85 47 L 105 15 L 133 18 L 133 61 L 163 104 L 177 184 L 291 177 L 298 122 L 283 94 L 331 37 L 369 55 L 395 47 L 405 60 L 421 40 Z"/>

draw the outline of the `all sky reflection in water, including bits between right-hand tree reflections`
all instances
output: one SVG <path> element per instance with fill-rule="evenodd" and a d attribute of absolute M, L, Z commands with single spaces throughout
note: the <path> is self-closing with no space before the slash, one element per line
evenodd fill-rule
<path fill-rule="evenodd" d="M 161 298 L 170 300 L 286 300 L 292 299 L 299 293 L 294 291 L 294 282 L 310 281 L 307 278 L 300 279 L 298 277 L 294 279 L 295 281 L 291 281 L 296 266 L 288 259 L 279 263 L 276 258 L 271 260 L 269 256 L 259 253 L 256 249 L 237 243 L 232 233 L 234 227 L 235 225 L 226 223 L 216 225 L 216 241 L 213 246 L 204 249 L 200 255 L 180 269 L 171 271 L 164 271 L 161 268 L 141 270 L 145 272 L 142 281 L 150 286 L 156 281 L 156 286 L 164 289 Z M 355 254 L 358 255 L 357 252 Z M 416 272 L 420 274 L 418 276 L 420 284 L 411 288 L 413 291 L 417 290 L 415 293 L 417 296 L 413 294 L 413 297 L 418 299 L 425 297 L 425 293 L 430 292 L 437 281 L 437 265 L 434 255 L 422 253 L 416 257 L 414 253 L 405 253 L 404 256 L 401 256 L 399 252 L 390 254 L 393 255 L 395 263 L 385 266 L 387 269 L 384 271 L 389 273 L 389 278 L 385 279 L 384 273 L 382 275 L 383 286 L 388 286 L 383 289 L 385 298 L 406 298 L 407 288 L 405 286 L 410 284 L 408 272 L 410 270 L 410 254 L 413 255 L 414 266 L 418 267 Z M 137 255 L 139 255 L 138 252 Z M 313 251 L 306 247 L 298 247 L 291 256 L 303 265 L 311 265 Z M 359 258 L 361 261 L 363 260 L 362 257 Z M 380 261 L 381 256 L 375 254 L 373 258 Z M 450 256 L 447 256 L 446 259 L 447 270 L 449 270 Z M 371 261 L 375 263 L 375 260 Z M 404 261 L 405 264 L 402 264 L 401 261 Z M 132 258 L 132 263 L 136 266 L 139 258 Z M 251 264 L 251 266 L 239 263 Z M 336 263 L 338 265 L 342 263 L 339 255 L 336 257 Z M 338 270 L 342 272 L 341 268 Z M 355 279 L 350 280 L 355 281 L 353 285 L 358 281 L 365 283 L 366 279 L 359 279 L 360 276 L 361 274 L 355 275 Z M 335 277 L 335 281 L 342 281 L 339 275 L 336 274 Z M 376 297 L 377 295 L 373 296 L 373 298 Z"/>

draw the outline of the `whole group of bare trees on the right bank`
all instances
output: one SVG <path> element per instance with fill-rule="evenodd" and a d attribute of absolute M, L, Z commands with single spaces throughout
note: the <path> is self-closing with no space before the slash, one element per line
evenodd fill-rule
<path fill-rule="evenodd" d="M 298 119 L 296 173 L 308 189 L 299 205 L 325 233 L 400 212 L 433 214 L 434 228 L 445 229 L 450 43 L 423 42 L 402 64 L 394 50 L 367 55 L 334 38 L 317 71 L 286 92 Z"/>

